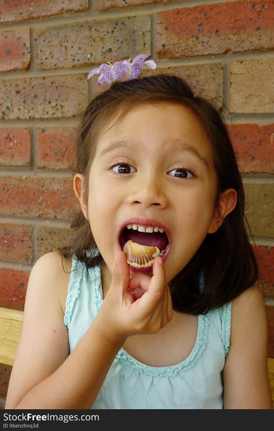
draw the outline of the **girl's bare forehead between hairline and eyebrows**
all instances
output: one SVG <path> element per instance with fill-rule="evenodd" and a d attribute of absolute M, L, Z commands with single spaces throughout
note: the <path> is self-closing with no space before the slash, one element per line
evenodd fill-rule
<path fill-rule="evenodd" d="M 108 129 L 102 131 L 98 140 L 97 159 L 122 149 L 143 156 L 179 155 L 184 150 L 206 169 L 211 169 L 214 163 L 212 146 L 202 123 L 189 109 L 175 103 L 137 106 Z"/>

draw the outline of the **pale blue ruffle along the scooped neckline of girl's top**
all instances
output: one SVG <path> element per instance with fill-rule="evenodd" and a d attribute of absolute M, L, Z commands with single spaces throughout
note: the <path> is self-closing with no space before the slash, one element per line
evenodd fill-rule
<path fill-rule="evenodd" d="M 98 268 L 98 267 L 97 267 Z M 95 267 L 93 268 L 93 270 Z M 97 278 L 97 277 L 96 277 Z M 103 291 L 101 278 L 97 278 L 98 282 L 95 283 L 94 291 L 94 303 L 97 312 L 103 302 Z M 171 365 L 167 367 L 153 367 L 150 365 L 143 364 L 143 362 L 137 361 L 133 356 L 129 355 L 123 348 L 121 348 L 116 357 L 120 359 L 125 364 L 131 366 L 132 368 L 138 369 L 144 375 L 153 375 L 157 377 L 161 376 L 174 376 L 179 371 L 187 371 L 197 362 L 197 359 L 201 356 L 203 350 L 206 347 L 208 338 L 208 327 L 209 327 L 209 312 L 205 315 L 198 315 L 198 330 L 196 342 L 190 355 L 183 362 L 176 365 Z"/>

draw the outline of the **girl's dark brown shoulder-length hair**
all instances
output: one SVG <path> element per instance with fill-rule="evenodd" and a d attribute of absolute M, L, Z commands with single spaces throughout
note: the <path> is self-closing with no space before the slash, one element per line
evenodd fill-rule
<path fill-rule="evenodd" d="M 244 220 L 245 194 L 237 166 L 234 147 L 224 119 L 206 97 L 194 94 L 180 76 L 164 73 L 112 84 L 98 94 L 85 109 L 76 131 L 77 163 L 72 169 L 84 175 L 84 194 L 88 195 L 88 174 L 103 127 L 114 118 L 120 121 L 134 106 L 148 102 L 175 102 L 187 107 L 206 129 L 212 144 L 217 174 L 215 208 L 227 188 L 237 191 L 237 204 L 213 234 L 207 234 L 190 262 L 170 282 L 173 308 L 193 315 L 217 309 L 252 287 L 258 279 L 258 265 L 249 242 Z M 106 120 L 107 119 L 107 120 Z M 221 217 L 221 214 L 219 212 Z M 254 238 L 246 220 L 253 243 Z M 79 211 L 72 217 L 75 238 L 59 250 L 65 257 L 74 254 L 87 266 L 102 262 L 89 222 Z M 86 253 L 86 252 L 89 253 Z M 204 287 L 199 291 L 199 274 L 203 272 Z"/>

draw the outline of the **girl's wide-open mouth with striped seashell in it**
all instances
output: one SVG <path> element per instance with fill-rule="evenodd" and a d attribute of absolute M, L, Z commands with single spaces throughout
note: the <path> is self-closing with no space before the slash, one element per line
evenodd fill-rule
<path fill-rule="evenodd" d="M 157 256 L 162 256 L 164 261 L 169 251 L 168 235 L 157 226 L 127 225 L 121 231 L 119 245 L 125 251 L 132 271 L 148 269 Z"/>

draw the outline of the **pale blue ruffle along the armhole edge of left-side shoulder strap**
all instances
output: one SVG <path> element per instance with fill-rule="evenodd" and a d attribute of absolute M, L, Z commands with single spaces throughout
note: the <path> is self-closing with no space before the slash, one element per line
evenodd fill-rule
<path fill-rule="evenodd" d="M 80 294 L 80 281 L 83 278 L 83 263 L 76 258 L 75 255 L 72 256 L 72 270 L 68 286 L 68 295 L 65 302 L 65 315 L 64 323 L 69 329 L 69 325 L 72 319 L 72 310 Z"/>

